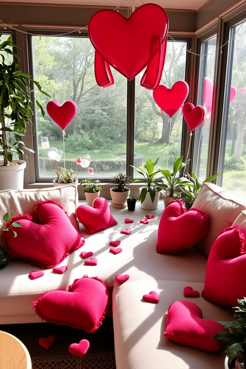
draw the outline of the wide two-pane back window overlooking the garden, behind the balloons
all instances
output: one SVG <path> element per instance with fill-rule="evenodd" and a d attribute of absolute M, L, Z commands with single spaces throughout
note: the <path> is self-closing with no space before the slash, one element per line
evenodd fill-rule
<path fill-rule="evenodd" d="M 158 164 L 166 168 L 168 151 L 169 167 L 173 166 L 174 159 L 180 156 L 181 109 L 172 118 L 169 147 L 169 117 L 166 113 L 160 116 L 152 91 L 140 86 L 142 75 L 129 82 L 111 68 L 115 83 L 101 88 L 94 77 L 94 49 L 89 38 L 37 35 L 31 40 L 34 79 L 53 100 L 59 103 L 73 100 L 78 106 L 76 117 L 65 129 L 64 147 L 62 129 L 48 114 L 43 118 L 37 109 L 34 148 L 38 152 L 37 182 L 51 178 L 54 169 L 48 149 L 41 146 L 42 137 L 48 137 L 50 147 L 65 152 L 68 170 L 75 170 L 78 156 L 90 155 L 94 176 L 101 181 L 119 171 L 129 175 L 129 164 L 141 166 L 142 160 L 150 158 L 154 161 L 160 157 Z M 167 43 L 162 84 L 171 87 L 177 80 L 185 79 L 186 48 L 187 42 Z M 35 94 L 45 108 L 50 99 L 37 89 Z M 135 121 L 131 113 L 134 106 Z M 64 168 L 64 154 L 58 165 Z M 88 177 L 86 168 L 80 170 L 80 177 Z"/>

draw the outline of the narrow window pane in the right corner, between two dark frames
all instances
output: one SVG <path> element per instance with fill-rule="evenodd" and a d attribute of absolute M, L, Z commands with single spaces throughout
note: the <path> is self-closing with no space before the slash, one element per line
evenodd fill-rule
<path fill-rule="evenodd" d="M 211 123 L 211 114 L 213 110 L 213 83 L 214 67 L 216 56 L 216 35 L 201 42 L 200 47 L 200 65 L 198 77 L 197 105 L 205 108 L 205 124 L 200 125 L 195 130 L 195 146 L 193 159 L 193 172 L 201 181 L 205 180 L 207 175 L 208 159 L 208 141 Z"/>

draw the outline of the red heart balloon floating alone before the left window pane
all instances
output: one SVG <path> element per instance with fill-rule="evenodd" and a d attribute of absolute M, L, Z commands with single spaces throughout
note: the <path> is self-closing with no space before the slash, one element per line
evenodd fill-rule
<path fill-rule="evenodd" d="M 77 104 L 74 101 L 68 100 L 61 105 L 57 101 L 52 100 L 48 102 L 46 110 L 51 119 L 53 119 L 62 130 L 65 130 L 67 125 L 72 122 L 77 114 Z"/>

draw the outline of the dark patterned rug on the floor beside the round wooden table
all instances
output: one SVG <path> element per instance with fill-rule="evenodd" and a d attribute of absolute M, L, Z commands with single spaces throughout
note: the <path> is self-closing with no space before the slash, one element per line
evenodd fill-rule
<path fill-rule="evenodd" d="M 50 323 L 5 324 L 0 330 L 13 334 L 27 347 L 32 369 L 116 369 L 112 318 L 107 317 L 94 334 Z M 46 350 L 39 345 L 41 337 L 56 336 L 55 344 Z M 79 358 L 68 351 L 72 343 L 87 339 L 90 347 Z"/>

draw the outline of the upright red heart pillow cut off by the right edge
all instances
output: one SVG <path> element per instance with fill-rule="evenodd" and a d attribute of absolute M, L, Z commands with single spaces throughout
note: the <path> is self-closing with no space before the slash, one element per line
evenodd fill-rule
<path fill-rule="evenodd" d="M 245 236 L 238 224 L 225 228 L 208 255 L 202 297 L 212 303 L 236 306 L 246 296 Z"/>

